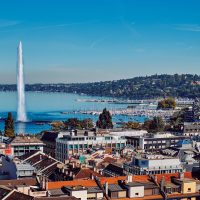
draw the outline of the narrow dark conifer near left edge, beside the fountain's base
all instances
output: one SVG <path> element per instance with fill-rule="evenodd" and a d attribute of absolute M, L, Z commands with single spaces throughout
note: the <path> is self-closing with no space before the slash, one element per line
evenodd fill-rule
<path fill-rule="evenodd" d="M 12 113 L 9 112 L 8 113 L 8 117 L 5 120 L 5 133 L 4 133 L 5 137 L 9 137 L 9 138 L 14 138 L 15 137 L 15 133 L 14 133 L 14 119 L 12 117 Z"/>

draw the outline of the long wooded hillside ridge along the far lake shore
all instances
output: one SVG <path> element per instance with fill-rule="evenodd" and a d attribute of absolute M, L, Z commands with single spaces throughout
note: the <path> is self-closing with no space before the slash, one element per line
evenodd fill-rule
<path fill-rule="evenodd" d="M 141 76 L 115 81 L 70 84 L 27 84 L 26 91 L 66 92 L 92 96 L 129 99 L 159 98 L 165 96 L 200 97 L 200 75 L 174 74 Z M 16 85 L 0 85 L 0 91 L 15 91 Z"/>

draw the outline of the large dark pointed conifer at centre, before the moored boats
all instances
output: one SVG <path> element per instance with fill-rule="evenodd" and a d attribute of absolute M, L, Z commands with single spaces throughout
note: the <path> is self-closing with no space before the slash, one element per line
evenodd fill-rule
<path fill-rule="evenodd" d="M 112 116 L 106 108 L 103 109 L 103 112 L 99 115 L 99 119 L 96 122 L 98 128 L 110 129 L 113 128 Z"/>

